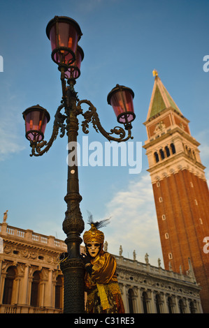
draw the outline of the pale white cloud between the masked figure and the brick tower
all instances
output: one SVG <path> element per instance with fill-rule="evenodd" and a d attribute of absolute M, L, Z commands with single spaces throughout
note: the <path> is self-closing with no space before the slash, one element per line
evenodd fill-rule
<path fill-rule="evenodd" d="M 145 262 L 148 253 L 150 264 L 157 265 L 162 255 L 149 174 L 139 174 L 137 181 L 130 181 L 127 190 L 116 193 L 106 208 L 111 216 L 105 228 L 108 251 L 118 255 L 122 245 L 124 258 L 133 259 L 135 250 L 138 261 Z"/>

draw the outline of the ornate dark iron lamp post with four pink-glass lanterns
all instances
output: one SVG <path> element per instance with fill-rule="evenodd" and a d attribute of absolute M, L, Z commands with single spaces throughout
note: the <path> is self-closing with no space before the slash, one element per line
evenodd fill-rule
<path fill-rule="evenodd" d="M 25 121 L 26 137 L 30 141 L 30 156 L 42 156 L 55 141 L 59 131 L 60 137 L 65 133 L 68 142 L 77 142 L 78 115 L 82 115 L 82 131 L 89 133 L 89 123 L 92 122 L 96 132 L 100 132 L 109 141 L 124 142 L 131 137 L 131 121 L 135 119 L 133 98 L 134 92 L 128 87 L 119 84 L 108 94 L 108 104 L 113 106 L 117 121 L 124 124 L 116 126 L 109 133 L 101 126 L 96 107 L 89 100 L 79 100 L 75 92 L 75 80 L 80 76 L 80 64 L 84 58 L 78 41 L 82 36 L 80 27 L 75 20 L 69 17 L 58 17 L 50 20 L 46 33 L 52 46 L 52 60 L 58 65 L 62 82 L 62 100 L 55 113 L 50 140 L 44 140 L 45 127 L 50 121 L 50 114 L 40 105 L 27 108 L 22 114 Z M 89 105 L 84 112 L 82 104 Z M 62 113 L 62 110 L 64 113 Z M 114 136 L 115 135 L 115 136 Z M 72 150 L 69 150 L 69 154 Z M 84 313 L 84 275 L 85 268 L 80 259 L 80 234 L 84 230 L 84 221 L 80 212 L 78 165 L 69 163 L 67 194 L 64 197 L 67 204 L 63 221 L 63 230 L 66 233 L 67 258 L 60 264 L 64 275 L 64 313 Z"/>

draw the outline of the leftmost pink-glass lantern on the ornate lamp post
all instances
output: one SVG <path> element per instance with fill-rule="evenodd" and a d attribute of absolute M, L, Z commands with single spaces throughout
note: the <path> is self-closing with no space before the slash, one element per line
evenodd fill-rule
<path fill-rule="evenodd" d="M 27 108 L 23 113 L 25 121 L 25 136 L 31 142 L 43 140 L 46 124 L 50 121 L 50 114 L 45 108 L 36 105 Z"/>

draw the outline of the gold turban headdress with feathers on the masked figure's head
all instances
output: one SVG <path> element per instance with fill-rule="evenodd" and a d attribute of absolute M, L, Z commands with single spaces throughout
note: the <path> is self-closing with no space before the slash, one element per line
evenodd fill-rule
<path fill-rule="evenodd" d="M 91 228 L 83 234 L 83 241 L 87 244 L 90 241 L 97 241 L 99 244 L 103 244 L 104 234 L 98 228 L 105 227 L 110 222 L 110 218 L 106 218 L 101 221 L 93 221 L 93 216 L 89 213 L 88 224 L 91 225 Z"/>

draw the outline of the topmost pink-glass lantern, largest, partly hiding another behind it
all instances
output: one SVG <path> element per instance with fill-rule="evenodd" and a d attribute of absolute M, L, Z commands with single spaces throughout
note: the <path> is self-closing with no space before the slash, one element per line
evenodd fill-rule
<path fill-rule="evenodd" d="M 56 64 L 72 64 L 78 40 L 82 36 L 78 23 L 69 17 L 55 16 L 48 23 L 46 34 L 52 46 L 52 60 Z"/>

